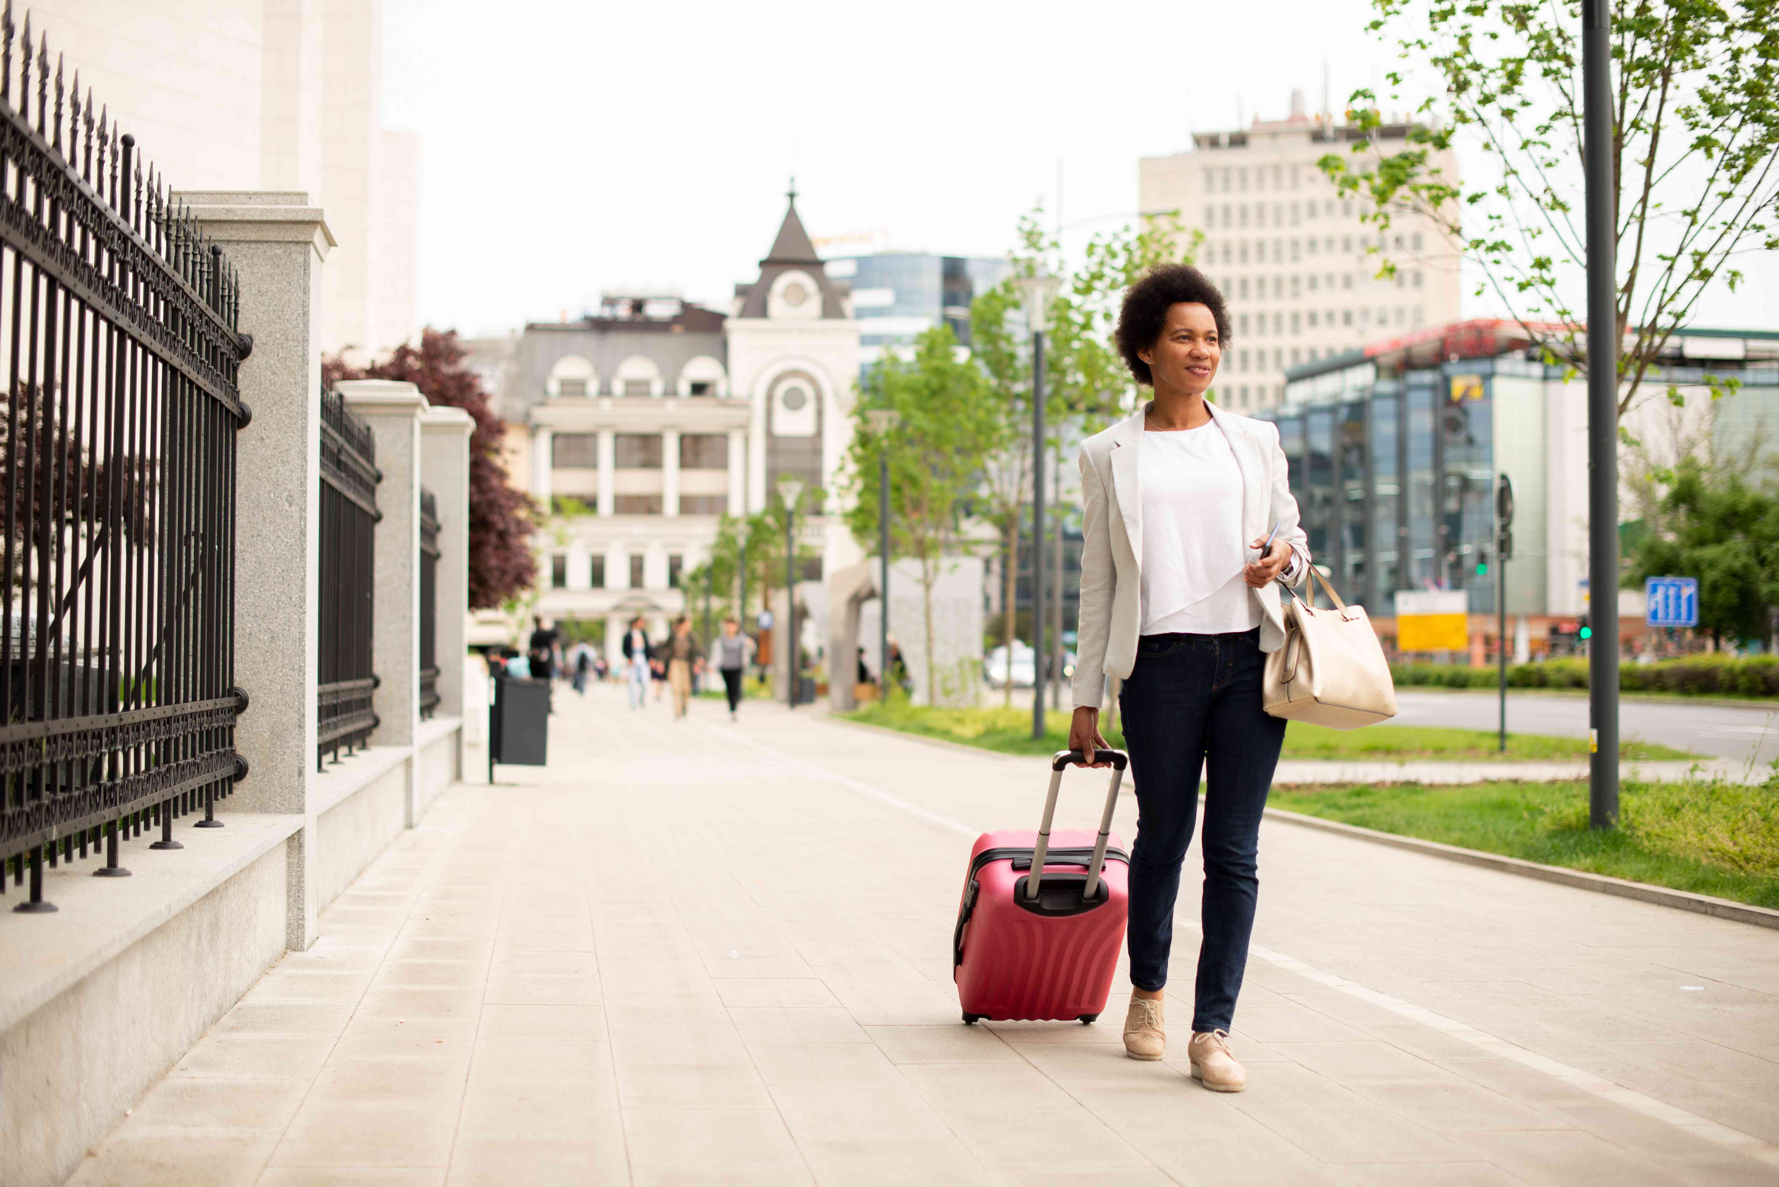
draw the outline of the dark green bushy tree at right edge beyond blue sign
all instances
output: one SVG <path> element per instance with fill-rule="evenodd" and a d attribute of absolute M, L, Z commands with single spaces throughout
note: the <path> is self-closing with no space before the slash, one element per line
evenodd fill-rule
<path fill-rule="evenodd" d="M 1665 531 L 1638 540 L 1628 576 L 1699 581 L 1699 627 L 1711 640 L 1758 640 L 1779 606 L 1779 496 L 1736 473 L 1711 476 L 1695 458 L 1662 474 Z"/>

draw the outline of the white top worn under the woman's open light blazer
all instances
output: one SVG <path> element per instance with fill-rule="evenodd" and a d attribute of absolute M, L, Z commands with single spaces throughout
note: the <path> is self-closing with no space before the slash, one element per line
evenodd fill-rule
<path fill-rule="evenodd" d="M 1260 625 L 1242 567 L 1242 467 L 1217 421 L 1142 434 L 1140 634 L 1226 634 Z"/>

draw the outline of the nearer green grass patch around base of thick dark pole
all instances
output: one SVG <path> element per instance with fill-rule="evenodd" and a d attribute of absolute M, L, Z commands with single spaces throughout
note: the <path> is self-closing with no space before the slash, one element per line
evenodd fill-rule
<path fill-rule="evenodd" d="M 1274 787 L 1272 807 L 1379 832 L 1503 853 L 1779 908 L 1779 773 L 1626 782 L 1619 828 L 1587 826 L 1587 784 Z"/>

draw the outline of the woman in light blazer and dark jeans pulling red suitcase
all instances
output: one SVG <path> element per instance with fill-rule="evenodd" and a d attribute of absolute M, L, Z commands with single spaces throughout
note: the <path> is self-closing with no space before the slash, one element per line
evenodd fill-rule
<path fill-rule="evenodd" d="M 1124 1050 L 1160 1059 L 1162 986 L 1179 867 L 1204 789 L 1203 942 L 1194 986 L 1192 1075 L 1238 1093 L 1229 1050 L 1260 888 L 1261 809 L 1284 721 L 1261 709 L 1265 652 L 1284 641 L 1276 579 L 1295 585 L 1309 551 L 1297 526 L 1277 426 L 1204 398 L 1229 341 L 1222 293 L 1185 265 L 1151 268 L 1124 295 L 1117 347 L 1155 400 L 1082 442 L 1085 503 L 1080 663 L 1069 746 L 1092 753 L 1107 675 L 1137 793 L 1130 862 L 1130 1016 Z M 1103 766 L 1103 764 L 1098 764 Z"/>

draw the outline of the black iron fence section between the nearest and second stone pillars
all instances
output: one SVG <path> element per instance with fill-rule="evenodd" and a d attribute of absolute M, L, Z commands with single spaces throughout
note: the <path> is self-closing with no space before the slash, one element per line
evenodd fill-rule
<path fill-rule="evenodd" d="M 377 560 L 377 444 L 370 425 L 345 407 L 338 391 L 322 393 L 322 572 L 320 688 L 317 753 L 340 757 L 363 746 L 377 729 L 370 709 L 370 617 Z"/>

